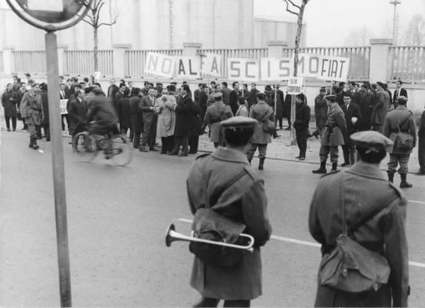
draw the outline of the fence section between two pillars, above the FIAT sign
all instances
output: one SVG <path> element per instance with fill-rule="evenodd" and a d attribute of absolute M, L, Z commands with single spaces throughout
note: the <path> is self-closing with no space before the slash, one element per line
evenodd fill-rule
<path fill-rule="evenodd" d="M 291 57 L 294 48 L 284 49 L 285 57 Z M 308 47 L 300 48 L 300 53 L 350 58 L 348 80 L 369 79 L 370 47 Z"/>

